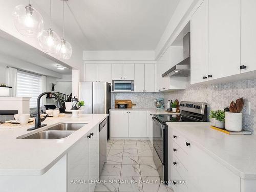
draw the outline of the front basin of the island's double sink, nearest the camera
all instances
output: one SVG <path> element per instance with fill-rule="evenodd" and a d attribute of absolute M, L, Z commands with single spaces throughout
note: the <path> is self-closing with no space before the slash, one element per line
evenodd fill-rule
<path fill-rule="evenodd" d="M 61 139 L 68 137 L 75 131 L 41 131 L 21 139 Z"/>

